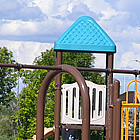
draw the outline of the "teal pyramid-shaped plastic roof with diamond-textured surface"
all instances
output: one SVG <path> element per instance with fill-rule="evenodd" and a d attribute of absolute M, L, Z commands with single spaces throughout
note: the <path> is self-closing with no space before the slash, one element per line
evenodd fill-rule
<path fill-rule="evenodd" d="M 115 53 L 116 45 L 93 18 L 83 16 L 55 42 L 54 50 Z"/>

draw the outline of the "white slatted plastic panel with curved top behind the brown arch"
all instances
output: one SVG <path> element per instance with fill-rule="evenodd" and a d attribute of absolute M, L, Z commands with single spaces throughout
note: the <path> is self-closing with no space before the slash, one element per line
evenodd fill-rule
<path fill-rule="evenodd" d="M 86 81 L 90 95 L 90 124 L 105 124 L 106 86 Z M 82 124 L 82 98 L 77 83 L 62 85 L 61 123 Z"/>

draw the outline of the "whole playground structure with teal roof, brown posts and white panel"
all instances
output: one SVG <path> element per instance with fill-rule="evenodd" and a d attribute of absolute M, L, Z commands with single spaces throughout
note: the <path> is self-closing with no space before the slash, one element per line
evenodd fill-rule
<path fill-rule="evenodd" d="M 71 125 L 66 127 L 69 129 L 82 129 L 82 140 L 90 139 L 90 130 L 104 131 L 104 139 L 106 140 L 123 140 L 125 130 L 125 140 L 127 140 L 129 110 L 130 108 L 134 107 L 136 112 L 137 108 L 139 107 L 139 104 L 137 103 L 137 89 L 135 90 L 135 103 L 128 103 L 128 92 L 126 101 L 121 102 L 119 93 L 120 82 L 118 80 L 113 82 L 113 73 L 129 73 L 137 76 L 140 74 L 140 71 L 113 69 L 113 57 L 114 53 L 116 53 L 116 45 L 103 31 L 103 29 L 91 17 L 87 16 L 79 18 L 56 41 L 54 51 L 56 51 L 57 54 L 57 66 L 0 64 L 1 67 L 51 70 L 43 80 L 38 94 L 36 139 L 43 140 L 54 133 L 55 140 L 59 140 L 61 120 L 62 124 L 81 124 L 82 126 Z M 105 53 L 106 68 L 75 68 L 72 66 L 63 65 L 63 51 Z M 95 85 L 94 83 L 85 81 L 79 71 L 106 73 L 106 85 Z M 61 73 L 69 73 L 75 78 L 76 83 L 72 85 L 66 84 L 61 86 Z M 50 131 L 48 131 L 48 133 L 44 136 L 45 98 L 48 87 L 54 77 L 56 77 L 54 109 L 55 131 L 50 129 Z M 136 82 L 135 87 L 137 88 L 137 82 L 139 81 L 135 80 L 134 82 Z M 93 95 L 96 95 L 96 97 L 93 97 Z M 68 104 L 66 104 L 66 102 L 68 102 Z M 81 104 L 79 104 L 79 102 Z M 124 107 L 127 107 L 126 126 L 123 126 L 123 119 L 121 120 L 123 117 L 122 115 Z M 62 114 L 60 115 L 60 113 Z M 134 122 L 136 122 L 136 119 L 137 117 L 135 115 Z M 135 126 L 136 123 L 134 124 L 134 140 L 136 140 Z"/>

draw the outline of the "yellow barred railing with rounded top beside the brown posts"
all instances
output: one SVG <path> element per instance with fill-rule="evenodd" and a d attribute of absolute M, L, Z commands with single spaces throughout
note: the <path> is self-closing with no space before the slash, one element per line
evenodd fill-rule
<path fill-rule="evenodd" d="M 134 95 L 133 95 L 133 101 L 129 100 L 129 86 L 130 84 L 135 83 L 135 90 L 134 90 Z M 122 101 L 122 107 L 121 107 L 121 140 L 123 140 L 125 138 L 128 139 L 129 138 L 129 127 L 131 126 L 131 122 L 130 122 L 130 113 L 132 111 L 130 110 L 134 110 L 134 114 L 133 114 L 133 123 L 134 123 L 134 127 L 133 127 L 133 135 L 134 135 L 134 140 L 136 139 L 140 139 L 140 137 L 138 136 L 138 138 L 136 137 L 136 130 L 138 130 L 140 128 L 140 123 L 139 123 L 139 127 L 137 128 L 137 118 L 140 122 L 140 112 L 138 111 L 138 109 L 140 108 L 140 94 L 137 91 L 137 85 L 138 83 L 140 83 L 140 81 L 138 80 L 132 80 L 128 83 L 127 85 L 127 92 L 126 92 L 126 101 Z M 125 113 L 124 113 L 125 110 Z M 133 112 L 132 112 L 133 113 Z M 126 115 L 124 117 L 124 114 Z M 131 128 L 132 129 L 132 128 Z M 125 130 L 125 131 L 124 131 Z M 138 130 L 139 134 L 140 134 L 140 129 Z M 124 137 L 124 133 L 125 133 L 125 137 Z"/>

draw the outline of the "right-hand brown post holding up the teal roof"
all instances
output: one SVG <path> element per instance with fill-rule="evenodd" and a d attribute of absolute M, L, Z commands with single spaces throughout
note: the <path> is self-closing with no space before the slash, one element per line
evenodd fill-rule
<path fill-rule="evenodd" d="M 106 68 L 107 69 L 113 69 L 113 57 L 114 57 L 113 53 L 107 53 L 107 56 L 106 56 Z M 108 76 L 109 76 L 109 78 L 107 78 L 107 75 L 106 75 L 106 85 L 107 85 L 107 87 L 109 87 L 109 85 L 113 83 L 113 73 L 109 73 Z M 108 81 L 107 81 L 107 79 L 108 79 Z M 107 91 L 107 93 L 108 93 L 108 91 Z M 107 94 L 107 96 L 108 96 L 108 94 Z M 111 97 L 112 95 L 110 94 L 109 96 Z M 109 97 L 109 99 L 110 99 L 110 97 Z M 110 127 L 110 123 L 109 123 L 109 122 L 111 122 L 111 120 L 110 120 L 111 118 L 108 114 L 108 112 L 110 112 L 110 110 L 108 110 L 109 109 L 108 105 L 110 105 L 110 102 L 108 101 L 108 97 L 106 99 L 107 99 L 106 100 L 106 103 L 107 103 L 106 104 L 107 105 L 106 106 L 106 121 L 105 121 L 106 140 L 109 140 L 110 137 L 111 137 L 110 136 L 110 130 L 112 128 Z"/>

